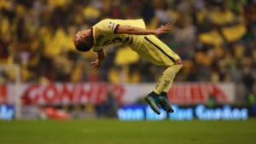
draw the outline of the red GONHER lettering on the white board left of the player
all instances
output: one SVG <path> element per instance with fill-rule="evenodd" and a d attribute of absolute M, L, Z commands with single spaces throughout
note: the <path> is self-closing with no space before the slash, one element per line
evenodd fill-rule
<path fill-rule="evenodd" d="M 120 102 L 124 87 L 112 84 L 31 84 L 22 94 L 27 104 L 84 104 L 106 101 L 113 92 Z"/>

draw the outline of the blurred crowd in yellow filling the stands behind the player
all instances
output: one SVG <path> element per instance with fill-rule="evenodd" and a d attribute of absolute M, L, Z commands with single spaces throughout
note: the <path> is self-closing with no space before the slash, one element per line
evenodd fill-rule
<path fill-rule="evenodd" d="M 255 78 L 255 0 L 0 0 L 0 65 L 18 64 L 22 82 L 155 82 L 165 67 L 124 45 L 105 48 L 101 72 L 90 69 L 94 52 L 74 49 L 75 33 L 105 18 L 172 24 L 159 38 L 183 59 L 176 81 Z"/>

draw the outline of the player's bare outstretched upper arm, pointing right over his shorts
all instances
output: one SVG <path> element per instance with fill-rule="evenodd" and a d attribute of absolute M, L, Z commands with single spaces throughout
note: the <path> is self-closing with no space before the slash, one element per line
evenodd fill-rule
<path fill-rule="evenodd" d="M 168 32 L 168 30 L 171 28 L 170 24 L 166 24 L 165 26 L 160 26 L 158 29 L 155 30 L 148 30 L 138 27 L 128 27 L 128 26 L 118 26 L 116 27 L 115 33 L 117 34 L 135 34 L 135 35 L 160 35 L 162 33 Z"/>

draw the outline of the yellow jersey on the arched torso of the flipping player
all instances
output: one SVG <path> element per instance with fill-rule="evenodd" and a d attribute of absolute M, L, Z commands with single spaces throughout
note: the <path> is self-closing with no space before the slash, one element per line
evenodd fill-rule
<path fill-rule="evenodd" d="M 145 23 L 140 20 L 113 20 L 105 19 L 98 22 L 95 26 L 91 27 L 92 35 L 94 39 L 94 45 L 92 49 L 94 51 L 100 51 L 104 46 L 108 46 L 112 43 L 125 43 L 128 44 L 131 49 L 140 47 L 144 36 L 143 35 L 131 35 L 131 34 L 115 34 L 119 26 L 132 26 L 145 28 Z"/>

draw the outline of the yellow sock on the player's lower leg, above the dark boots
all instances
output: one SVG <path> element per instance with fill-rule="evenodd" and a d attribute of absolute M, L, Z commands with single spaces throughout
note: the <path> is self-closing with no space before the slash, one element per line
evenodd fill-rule
<path fill-rule="evenodd" d="M 153 90 L 156 94 L 160 95 L 161 92 L 168 92 L 168 90 L 172 86 L 173 79 L 176 73 L 182 68 L 182 64 L 180 65 L 173 65 L 168 67 L 165 72 L 163 72 L 162 76 L 158 84 L 156 85 L 155 89 Z"/>

